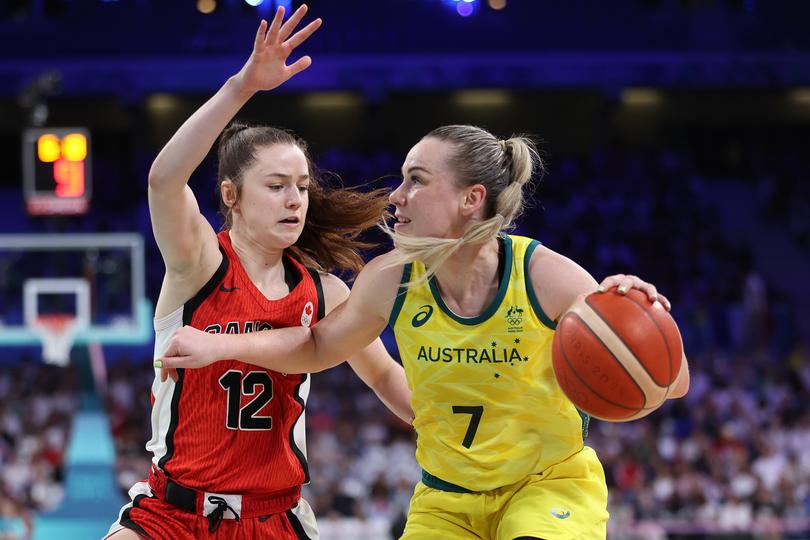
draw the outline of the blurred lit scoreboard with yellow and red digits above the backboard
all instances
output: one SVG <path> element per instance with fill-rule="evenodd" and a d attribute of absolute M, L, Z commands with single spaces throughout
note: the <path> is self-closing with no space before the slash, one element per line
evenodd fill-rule
<path fill-rule="evenodd" d="M 92 193 L 90 133 L 84 128 L 29 128 L 23 134 L 23 194 L 28 213 L 87 212 Z"/>

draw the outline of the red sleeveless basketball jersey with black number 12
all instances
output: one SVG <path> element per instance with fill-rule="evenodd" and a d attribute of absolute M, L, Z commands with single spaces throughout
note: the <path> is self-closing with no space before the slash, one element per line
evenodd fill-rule
<path fill-rule="evenodd" d="M 228 232 L 218 238 L 223 258 L 214 276 L 177 312 L 155 321 L 156 358 L 181 325 L 238 334 L 309 326 L 322 315 L 316 272 L 289 258 L 300 281 L 284 298 L 268 300 L 242 267 Z M 309 480 L 304 438 L 308 375 L 237 360 L 178 372 L 177 383 L 156 377 L 152 387 L 147 450 L 168 476 L 201 491 L 239 494 L 267 494 Z"/>

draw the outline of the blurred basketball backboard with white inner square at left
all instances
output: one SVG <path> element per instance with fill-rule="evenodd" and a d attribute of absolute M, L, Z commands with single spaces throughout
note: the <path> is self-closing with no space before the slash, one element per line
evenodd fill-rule
<path fill-rule="evenodd" d="M 152 339 L 139 234 L 0 235 L 0 345 L 39 344 L 39 323 L 64 319 L 75 343 Z"/>

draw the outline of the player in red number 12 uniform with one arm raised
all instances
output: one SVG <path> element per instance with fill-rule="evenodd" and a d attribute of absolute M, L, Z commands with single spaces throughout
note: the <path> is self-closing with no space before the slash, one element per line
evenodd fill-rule
<path fill-rule="evenodd" d="M 315 20 L 293 33 L 305 13 L 302 6 L 282 24 L 279 8 L 269 27 L 262 21 L 245 66 L 180 127 L 152 165 L 149 207 L 166 264 L 155 314 L 156 358 L 183 325 L 225 334 L 314 325 L 348 296 L 346 285 L 323 271 L 358 271 L 362 264 L 356 250 L 364 244 L 356 233 L 378 222 L 385 195 L 319 185 L 305 144 L 288 132 L 234 124 L 222 132 L 226 224 L 219 234 L 186 185 L 254 93 L 310 65 L 306 56 L 286 64 L 321 24 Z M 351 365 L 410 422 L 404 372 L 379 340 Z M 236 360 L 157 376 L 149 479 L 130 490 L 132 502 L 108 538 L 317 538 L 312 510 L 301 498 L 309 480 L 308 391 L 307 375 Z"/>

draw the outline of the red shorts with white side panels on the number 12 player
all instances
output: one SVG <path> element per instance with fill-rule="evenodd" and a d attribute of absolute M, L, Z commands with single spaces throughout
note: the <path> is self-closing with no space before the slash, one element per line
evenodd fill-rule
<path fill-rule="evenodd" d="M 208 518 L 180 509 L 151 495 L 145 483 L 130 490 L 132 502 L 110 527 L 108 536 L 130 529 L 155 540 L 312 540 L 318 538 L 315 516 L 300 499 L 285 512 L 254 518 L 223 519 L 216 532 L 209 532 Z"/>

